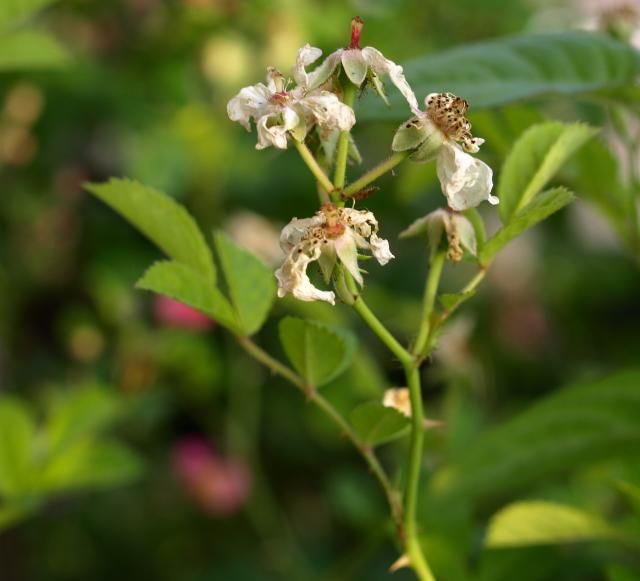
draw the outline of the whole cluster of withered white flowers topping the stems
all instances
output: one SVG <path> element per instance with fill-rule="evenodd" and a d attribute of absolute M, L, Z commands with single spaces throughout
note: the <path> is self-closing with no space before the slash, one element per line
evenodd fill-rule
<path fill-rule="evenodd" d="M 312 129 L 318 129 L 320 141 L 326 147 L 329 136 L 337 138 L 339 133 L 344 136 L 355 124 L 351 101 L 344 102 L 345 80 L 362 90 L 373 88 L 386 101 L 382 77 L 388 77 L 413 115 L 396 131 L 392 150 L 406 152 L 412 161 L 435 160 L 448 206 L 416 221 L 403 235 L 425 231 L 433 255 L 446 234 L 447 257 L 451 261 L 461 260 L 465 252 L 475 254 L 473 227 L 459 212 L 485 200 L 497 204 L 498 199 L 491 195 L 491 168 L 471 155 L 479 151 L 484 140 L 471 134 L 471 124 L 466 118 L 469 105 L 451 93 L 432 93 L 425 98 L 422 111 L 402 67 L 373 47 L 360 47 L 362 26 L 362 20 L 355 18 L 349 45 L 328 55 L 315 68 L 312 65 L 320 59 L 322 51 L 308 44 L 302 47 L 292 67 L 292 79 L 268 69 L 266 84 L 245 87 L 229 101 L 229 118 L 247 130 L 251 129 L 251 121 L 255 123 L 258 149 L 270 146 L 286 149 L 293 139 L 301 144 L 298 147 L 303 147 L 301 153 L 308 152 L 304 144 Z M 331 156 L 327 162 L 332 162 Z M 312 171 L 318 177 L 317 172 L 322 174 L 323 169 L 316 164 Z M 326 176 L 321 183 L 325 190 L 330 189 Z M 328 283 L 340 261 L 362 285 L 358 249 L 369 250 L 382 265 L 393 258 L 389 243 L 378 237 L 375 216 L 370 211 L 340 207 L 340 188 L 336 190 L 335 204 L 324 204 L 311 218 L 294 218 L 282 230 L 280 245 L 287 256 L 276 271 L 280 297 L 292 294 L 303 301 L 334 304 L 334 292 L 320 290 L 311 283 L 307 275 L 309 263 L 318 262 Z"/>

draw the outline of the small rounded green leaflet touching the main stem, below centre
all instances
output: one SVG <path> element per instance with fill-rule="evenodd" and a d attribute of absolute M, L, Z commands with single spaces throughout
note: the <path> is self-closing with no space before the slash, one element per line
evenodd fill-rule
<path fill-rule="evenodd" d="M 362 441 L 370 446 L 401 438 L 411 428 L 409 418 L 375 401 L 359 405 L 351 412 L 350 419 Z"/>

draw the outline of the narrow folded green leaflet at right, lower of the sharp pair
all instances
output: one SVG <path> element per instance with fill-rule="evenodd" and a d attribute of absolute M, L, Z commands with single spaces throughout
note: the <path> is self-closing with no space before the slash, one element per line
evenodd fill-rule
<path fill-rule="evenodd" d="M 565 188 L 554 188 L 536 196 L 530 204 L 513 216 L 506 226 L 486 241 L 479 254 L 480 262 L 490 262 L 511 240 L 561 210 L 574 198 L 575 196 Z"/>

